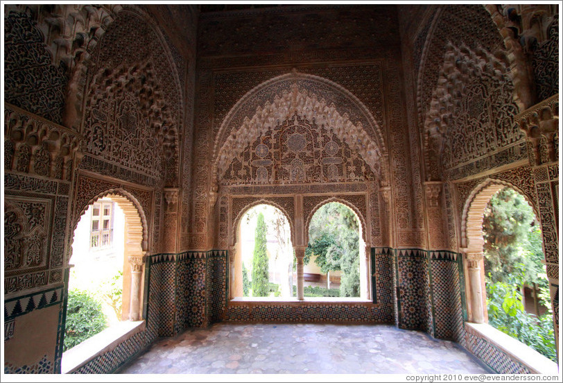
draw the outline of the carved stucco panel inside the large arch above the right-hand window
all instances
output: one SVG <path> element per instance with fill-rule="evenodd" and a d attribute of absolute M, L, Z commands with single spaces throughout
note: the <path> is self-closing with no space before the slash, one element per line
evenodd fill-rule
<path fill-rule="evenodd" d="M 521 138 L 505 64 L 485 49 L 446 46 L 424 121 L 427 180 Z"/>

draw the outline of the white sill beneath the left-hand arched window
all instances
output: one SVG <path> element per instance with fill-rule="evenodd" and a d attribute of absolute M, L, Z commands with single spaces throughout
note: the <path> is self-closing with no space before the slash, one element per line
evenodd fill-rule
<path fill-rule="evenodd" d="M 68 374 L 78 370 L 89 361 L 105 352 L 110 352 L 119 343 L 145 330 L 145 321 L 123 321 L 108 327 L 94 337 L 62 353 L 61 373 Z"/>

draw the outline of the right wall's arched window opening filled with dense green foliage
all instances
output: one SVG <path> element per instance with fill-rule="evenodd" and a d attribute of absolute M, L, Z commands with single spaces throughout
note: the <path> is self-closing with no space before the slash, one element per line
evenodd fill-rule
<path fill-rule="evenodd" d="M 532 207 L 510 187 L 485 207 L 483 255 L 484 318 L 557 362 L 542 232 Z"/>

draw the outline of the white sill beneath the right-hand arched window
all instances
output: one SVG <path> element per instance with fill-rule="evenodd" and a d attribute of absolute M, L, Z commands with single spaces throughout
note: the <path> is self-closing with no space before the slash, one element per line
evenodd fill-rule
<path fill-rule="evenodd" d="M 533 348 L 510 337 L 487 323 L 465 323 L 465 330 L 484 338 L 494 346 L 526 366 L 532 373 L 557 375 L 557 364 Z"/>

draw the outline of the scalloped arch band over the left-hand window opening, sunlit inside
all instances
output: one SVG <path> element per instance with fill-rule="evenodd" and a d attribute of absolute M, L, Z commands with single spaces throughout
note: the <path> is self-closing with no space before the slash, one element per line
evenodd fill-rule
<path fill-rule="evenodd" d="M 135 196 L 121 188 L 103 191 L 93 198 L 90 198 L 85 205 L 80 206 L 80 214 L 77 215 L 78 218 L 76 221 L 72 223 L 72 232 L 76 230 L 80 217 L 83 216 L 89 205 L 92 205 L 94 202 L 104 197 L 111 198 L 125 214 L 125 223 L 128 225 L 128 230 L 125 232 L 125 243 L 133 244 L 133 246 L 135 246 L 135 244 L 140 244 L 140 248 L 136 250 L 139 250 L 139 252 L 142 253 L 147 252 L 148 224 L 143 207 L 141 207 L 141 203 L 139 203 Z M 73 241 L 74 236 L 71 235 L 71 244 Z"/>

